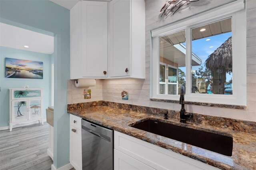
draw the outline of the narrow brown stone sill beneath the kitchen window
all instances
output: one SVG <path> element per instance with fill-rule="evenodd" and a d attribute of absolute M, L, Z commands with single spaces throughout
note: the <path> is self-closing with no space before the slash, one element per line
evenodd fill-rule
<path fill-rule="evenodd" d="M 166 99 L 153 99 L 151 98 L 150 101 L 160 101 L 160 102 L 168 102 L 168 103 L 179 103 L 176 100 L 166 100 Z M 224 104 L 215 104 L 215 103 L 201 103 L 201 102 L 193 102 L 193 101 L 185 101 L 186 105 L 200 105 L 200 106 L 210 106 L 210 107 L 222 107 L 222 108 L 229 108 L 229 109 L 246 109 L 246 106 L 240 105 L 224 105 Z"/>

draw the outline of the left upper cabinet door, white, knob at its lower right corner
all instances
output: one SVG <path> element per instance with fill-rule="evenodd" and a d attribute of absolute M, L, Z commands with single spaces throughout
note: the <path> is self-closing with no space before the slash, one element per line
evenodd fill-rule
<path fill-rule="evenodd" d="M 82 76 L 107 77 L 108 2 L 82 1 Z"/>

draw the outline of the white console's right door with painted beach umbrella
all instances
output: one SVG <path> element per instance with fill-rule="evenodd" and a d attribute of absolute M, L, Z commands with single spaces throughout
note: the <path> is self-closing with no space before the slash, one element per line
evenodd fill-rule
<path fill-rule="evenodd" d="M 41 99 L 28 100 L 28 120 L 42 117 L 41 107 Z"/>

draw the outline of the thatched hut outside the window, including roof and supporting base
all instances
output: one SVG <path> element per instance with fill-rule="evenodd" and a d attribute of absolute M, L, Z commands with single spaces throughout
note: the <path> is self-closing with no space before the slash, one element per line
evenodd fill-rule
<path fill-rule="evenodd" d="M 209 55 L 205 61 L 205 66 L 212 72 L 212 92 L 224 94 L 226 72 L 232 71 L 232 37 Z"/>

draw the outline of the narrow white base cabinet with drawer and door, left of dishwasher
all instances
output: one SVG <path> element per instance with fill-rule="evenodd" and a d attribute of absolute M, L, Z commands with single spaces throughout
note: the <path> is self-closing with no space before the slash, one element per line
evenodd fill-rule
<path fill-rule="evenodd" d="M 70 164 L 76 170 L 82 170 L 82 133 L 81 119 L 70 115 Z"/>

